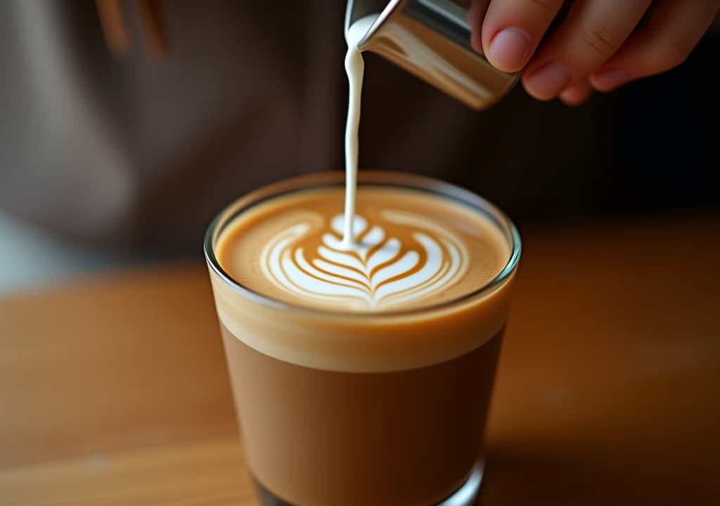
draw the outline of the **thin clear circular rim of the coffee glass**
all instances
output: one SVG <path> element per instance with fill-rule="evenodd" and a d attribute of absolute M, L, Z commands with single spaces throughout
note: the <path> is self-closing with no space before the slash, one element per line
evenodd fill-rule
<path fill-rule="evenodd" d="M 516 271 L 522 250 L 520 232 L 518 232 L 516 226 L 510 218 L 499 207 L 495 206 L 495 204 L 492 204 L 492 202 L 482 196 L 464 189 L 461 186 L 428 176 L 394 171 L 359 171 L 357 184 L 358 186 L 395 186 L 418 191 L 427 191 L 431 194 L 448 197 L 455 202 L 464 204 L 464 206 L 469 209 L 474 209 L 475 211 L 485 214 L 493 222 L 492 225 L 500 228 L 500 232 L 503 233 L 503 236 L 505 236 L 510 243 L 510 256 L 500 272 L 490 279 L 490 281 L 482 284 L 472 292 L 468 292 L 467 294 L 463 294 L 459 297 L 454 297 L 453 299 L 443 302 L 438 302 L 436 304 L 395 311 L 337 311 L 325 310 L 318 307 L 309 307 L 302 304 L 294 304 L 292 302 L 284 302 L 274 299 L 241 284 L 239 281 L 233 279 L 233 277 L 230 276 L 224 268 L 222 268 L 220 261 L 218 261 L 217 256 L 215 256 L 215 239 L 219 237 L 223 227 L 228 225 L 230 222 L 233 222 L 233 220 L 235 220 L 235 218 L 240 214 L 258 204 L 261 204 L 262 202 L 267 202 L 285 194 L 291 194 L 296 191 L 326 188 L 328 186 L 338 186 L 338 184 L 344 184 L 344 181 L 345 174 L 343 171 L 318 172 L 283 179 L 282 181 L 276 183 L 261 186 L 258 189 L 250 191 L 248 194 L 238 197 L 238 199 L 235 199 L 233 202 L 230 202 L 230 204 L 225 206 L 207 227 L 203 241 L 203 250 L 207 265 L 226 285 L 230 286 L 234 292 L 265 307 L 324 318 L 361 317 L 373 319 L 402 317 L 434 312 L 453 307 L 457 304 L 462 304 L 463 302 L 467 302 L 471 299 L 482 298 L 485 294 L 492 292 L 498 286 L 502 285 Z M 307 184 L 308 182 L 312 182 L 312 184 Z M 503 230 L 503 227 L 505 227 L 505 230 Z"/>

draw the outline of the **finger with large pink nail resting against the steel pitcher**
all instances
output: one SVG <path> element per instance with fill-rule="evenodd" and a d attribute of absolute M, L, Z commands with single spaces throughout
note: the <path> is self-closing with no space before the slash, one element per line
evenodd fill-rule
<path fill-rule="evenodd" d="M 482 19 L 480 37 L 474 32 L 474 45 L 482 45 L 482 53 L 495 68 L 519 71 L 561 6 L 562 0 L 492 0 Z M 479 7 L 474 9 L 482 12 Z M 480 24 L 477 12 L 475 22 Z"/>

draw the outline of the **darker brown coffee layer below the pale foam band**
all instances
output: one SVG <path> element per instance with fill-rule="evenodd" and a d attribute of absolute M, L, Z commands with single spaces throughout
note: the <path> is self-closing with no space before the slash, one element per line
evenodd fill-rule
<path fill-rule="evenodd" d="M 222 334 L 251 471 L 289 503 L 435 504 L 477 461 L 502 330 L 449 361 L 383 373 L 298 366 Z"/>

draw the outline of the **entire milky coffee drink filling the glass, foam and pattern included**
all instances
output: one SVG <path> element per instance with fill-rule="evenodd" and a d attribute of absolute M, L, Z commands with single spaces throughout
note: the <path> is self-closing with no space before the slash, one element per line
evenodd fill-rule
<path fill-rule="evenodd" d="M 469 477 L 508 306 L 508 238 L 480 210 L 362 184 L 230 213 L 212 276 L 253 476 L 292 505 L 435 505 Z M 275 301 L 275 302 L 271 302 Z"/>

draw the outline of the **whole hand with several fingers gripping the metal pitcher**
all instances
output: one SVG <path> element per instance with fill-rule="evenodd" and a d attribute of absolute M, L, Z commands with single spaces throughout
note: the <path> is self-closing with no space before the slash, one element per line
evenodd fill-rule
<path fill-rule="evenodd" d="M 523 72 L 539 100 L 581 104 L 683 63 L 712 24 L 720 0 L 576 0 L 541 45 L 563 0 L 473 0 L 472 45 L 496 68 Z M 646 11 L 647 27 L 634 32 Z M 487 12 L 486 12 L 487 11 Z M 538 47 L 540 46 L 540 47 Z"/>

